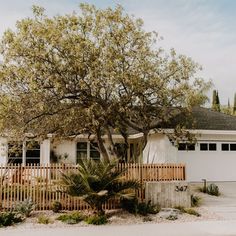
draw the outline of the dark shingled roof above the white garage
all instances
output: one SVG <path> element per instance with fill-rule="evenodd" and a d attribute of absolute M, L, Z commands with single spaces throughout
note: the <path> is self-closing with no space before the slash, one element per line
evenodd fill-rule
<path fill-rule="evenodd" d="M 213 111 L 210 108 L 193 107 L 190 116 L 178 115 L 169 122 L 168 128 L 174 128 L 180 122 L 186 122 L 187 129 L 236 130 L 236 116 Z"/>

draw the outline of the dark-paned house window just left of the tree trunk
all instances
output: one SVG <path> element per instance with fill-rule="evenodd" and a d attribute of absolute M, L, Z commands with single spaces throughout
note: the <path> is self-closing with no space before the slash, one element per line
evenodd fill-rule
<path fill-rule="evenodd" d="M 77 143 L 77 162 L 81 159 L 91 158 L 93 160 L 100 159 L 97 143 L 78 142 Z"/>

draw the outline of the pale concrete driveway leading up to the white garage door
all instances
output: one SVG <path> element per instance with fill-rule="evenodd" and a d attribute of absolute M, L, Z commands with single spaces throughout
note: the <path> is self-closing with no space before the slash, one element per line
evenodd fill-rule
<path fill-rule="evenodd" d="M 236 220 L 236 182 L 216 183 L 219 197 L 201 194 L 203 206 L 226 220 Z M 235 226 L 236 227 L 236 226 Z"/>

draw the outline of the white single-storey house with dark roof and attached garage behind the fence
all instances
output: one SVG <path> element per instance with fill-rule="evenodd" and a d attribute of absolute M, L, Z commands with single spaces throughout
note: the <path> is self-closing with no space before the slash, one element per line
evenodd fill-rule
<path fill-rule="evenodd" d="M 236 117 L 196 107 L 192 111 L 195 129 L 189 130 L 197 138 L 196 144 L 180 143 L 176 147 L 165 134 L 151 133 L 140 154 L 142 134 L 130 130 L 129 149 L 122 153 L 124 161 L 143 163 L 185 163 L 188 181 L 236 181 Z M 171 130 L 171 125 L 168 130 Z M 122 152 L 123 139 L 114 134 L 115 142 Z M 106 140 L 106 138 L 105 138 Z M 83 135 L 71 140 L 53 142 L 50 138 L 41 143 L 27 145 L 27 140 L 18 150 L 11 150 L 7 138 L 0 139 L 0 163 L 50 163 L 53 157 L 60 161 L 76 163 L 83 157 L 99 159 L 96 144 L 87 142 Z M 51 157 L 50 157 L 51 156 Z"/>

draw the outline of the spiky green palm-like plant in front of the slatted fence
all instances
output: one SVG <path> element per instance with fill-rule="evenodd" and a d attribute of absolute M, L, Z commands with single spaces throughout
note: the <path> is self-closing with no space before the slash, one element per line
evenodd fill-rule
<path fill-rule="evenodd" d="M 62 185 L 66 193 L 81 197 L 98 215 L 105 212 L 102 205 L 109 199 L 119 197 L 131 199 L 140 187 L 136 180 L 124 179 L 127 169 L 117 168 L 117 162 L 84 160 L 78 170 L 62 174 Z"/>

